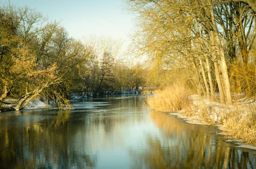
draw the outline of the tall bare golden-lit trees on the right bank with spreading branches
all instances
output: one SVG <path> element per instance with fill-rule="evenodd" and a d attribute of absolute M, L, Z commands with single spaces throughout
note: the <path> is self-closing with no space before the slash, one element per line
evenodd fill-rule
<path fill-rule="evenodd" d="M 154 65 L 186 69 L 198 93 L 215 98 L 217 91 L 221 103 L 231 104 L 232 92 L 255 91 L 248 79 L 247 84 L 237 84 L 241 76 L 231 72 L 239 68 L 237 64 L 253 70 L 253 0 L 128 0 L 127 4 L 137 16 L 135 52 L 148 55 Z"/>

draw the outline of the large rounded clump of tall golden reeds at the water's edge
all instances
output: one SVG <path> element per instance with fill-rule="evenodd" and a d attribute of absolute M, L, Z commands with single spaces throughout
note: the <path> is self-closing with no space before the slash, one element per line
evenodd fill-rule
<path fill-rule="evenodd" d="M 181 83 L 174 83 L 171 86 L 157 92 L 154 97 L 149 97 L 146 102 L 157 111 L 175 111 L 184 109 L 191 104 L 189 90 Z"/>

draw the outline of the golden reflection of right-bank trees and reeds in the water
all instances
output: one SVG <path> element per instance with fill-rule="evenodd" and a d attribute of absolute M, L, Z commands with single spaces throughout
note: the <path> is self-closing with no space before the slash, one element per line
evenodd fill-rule
<path fill-rule="evenodd" d="M 216 139 L 215 133 L 212 133 L 215 131 L 212 126 L 200 127 L 180 120 L 172 120 L 173 118 L 175 117 L 164 112 L 151 112 L 151 120 L 154 120 L 164 136 L 148 135 L 146 151 L 130 151 L 134 168 L 254 169 L 256 167 L 256 154 L 253 154 L 253 151 L 240 151 L 223 140 Z M 175 123 L 177 121 L 179 125 Z"/>

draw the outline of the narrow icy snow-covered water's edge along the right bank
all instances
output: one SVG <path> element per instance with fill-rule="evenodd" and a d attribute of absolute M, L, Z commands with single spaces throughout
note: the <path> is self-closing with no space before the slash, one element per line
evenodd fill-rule
<path fill-rule="evenodd" d="M 184 114 L 185 114 L 184 110 L 178 110 L 178 111 L 172 111 L 172 112 L 168 111 L 167 113 L 169 115 L 175 115 L 177 118 L 182 118 L 186 123 L 189 123 L 189 124 L 218 126 L 219 130 L 224 131 L 223 129 L 220 128 L 220 125 L 210 125 L 210 124 L 207 124 L 207 123 L 200 123 L 200 122 L 198 122 L 198 119 L 196 119 L 196 117 L 186 117 L 186 116 L 184 116 Z M 218 134 L 223 135 L 221 133 L 218 133 Z M 223 140 L 223 141 L 227 142 L 227 143 L 234 144 L 233 147 L 242 148 L 242 149 L 250 149 L 250 150 L 256 151 L 256 146 L 251 146 L 250 144 L 242 143 L 241 139 L 227 139 L 227 140 Z"/>

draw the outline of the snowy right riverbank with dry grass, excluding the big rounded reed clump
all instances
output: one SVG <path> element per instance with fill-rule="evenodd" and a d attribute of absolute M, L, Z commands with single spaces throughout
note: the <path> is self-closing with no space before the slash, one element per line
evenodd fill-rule
<path fill-rule="evenodd" d="M 198 95 L 190 96 L 192 104 L 184 110 L 170 112 L 187 123 L 215 125 L 222 130 L 226 142 L 240 148 L 256 150 L 255 101 L 238 99 L 233 105 L 206 100 Z"/>

